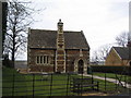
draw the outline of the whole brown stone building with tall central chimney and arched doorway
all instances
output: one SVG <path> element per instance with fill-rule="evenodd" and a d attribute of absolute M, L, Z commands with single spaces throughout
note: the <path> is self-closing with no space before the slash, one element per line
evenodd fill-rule
<path fill-rule="evenodd" d="M 86 73 L 90 65 L 90 46 L 83 32 L 63 30 L 61 20 L 57 27 L 57 30 L 29 28 L 29 72 Z"/>

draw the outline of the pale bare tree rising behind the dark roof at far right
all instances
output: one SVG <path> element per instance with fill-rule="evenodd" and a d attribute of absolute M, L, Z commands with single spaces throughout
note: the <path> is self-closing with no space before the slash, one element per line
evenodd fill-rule
<path fill-rule="evenodd" d="M 117 45 L 120 47 L 127 47 L 128 45 L 128 37 L 129 33 L 121 33 L 119 36 L 116 37 Z"/>

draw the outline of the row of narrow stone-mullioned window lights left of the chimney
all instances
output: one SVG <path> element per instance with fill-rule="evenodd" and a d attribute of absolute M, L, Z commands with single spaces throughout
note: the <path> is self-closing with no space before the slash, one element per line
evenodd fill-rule
<path fill-rule="evenodd" d="M 36 63 L 37 64 L 49 64 L 49 57 L 48 56 L 37 56 Z"/>

